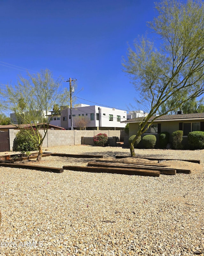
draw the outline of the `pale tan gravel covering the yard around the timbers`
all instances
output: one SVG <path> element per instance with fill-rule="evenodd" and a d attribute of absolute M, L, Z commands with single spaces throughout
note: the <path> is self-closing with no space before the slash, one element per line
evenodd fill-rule
<path fill-rule="evenodd" d="M 66 146 L 47 152 L 129 156 L 121 147 Z M 0 255 L 204 255 L 204 150 L 135 150 L 191 174 L 143 177 L 0 167 Z M 5 155 L 6 152 L 1 152 Z M 87 165 L 43 157 L 37 165 Z"/>

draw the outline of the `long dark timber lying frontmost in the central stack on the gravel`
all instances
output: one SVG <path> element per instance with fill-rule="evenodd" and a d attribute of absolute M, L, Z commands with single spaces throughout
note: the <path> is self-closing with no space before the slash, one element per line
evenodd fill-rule
<path fill-rule="evenodd" d="M 159 177 L 159 175 L 160 175 L 159 171 L 137 170 L 137 169 L 127 169 L 127 168 L 112 168 L 112 167 L 65 165 L 65 166 L 63 166 L 63 169 L 71 170 L 71 171 L 78 171 L 78 172 L 105 172 L 105 173 L 140 175 L 140 176 L 151 176 L 151 177 Z"/>

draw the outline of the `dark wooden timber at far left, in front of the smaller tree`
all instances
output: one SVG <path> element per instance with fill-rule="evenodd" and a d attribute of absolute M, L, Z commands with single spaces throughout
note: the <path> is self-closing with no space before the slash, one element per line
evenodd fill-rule
<path fill-rule="evenodd" d="M 38 171 L 43 171 L 43 172 L 55 172 L 55 173 L 62 173 L 64 171 L 63 168 L 55 168 L 55 167 L 40 166 L 40 165 L 0 163 L 0 166 L 11 167 L 11 168 L 38 170 Z"/>

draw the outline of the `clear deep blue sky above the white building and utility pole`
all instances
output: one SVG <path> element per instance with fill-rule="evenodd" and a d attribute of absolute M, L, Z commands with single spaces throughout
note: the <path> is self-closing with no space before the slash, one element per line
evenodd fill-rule
<path fill-rule="evenodd" d="M 26 70 L 49 69 L 54 78 L 77 79 L 76 103 L 128 110 L 137 92 L 122 56 L 148 30 L 154 6 L 152 0 L 1 0 L 0 88 Z"/>

